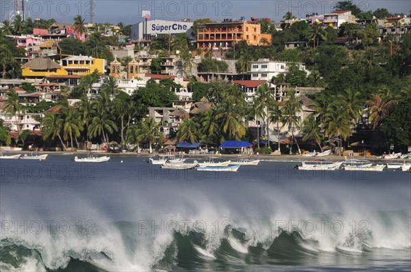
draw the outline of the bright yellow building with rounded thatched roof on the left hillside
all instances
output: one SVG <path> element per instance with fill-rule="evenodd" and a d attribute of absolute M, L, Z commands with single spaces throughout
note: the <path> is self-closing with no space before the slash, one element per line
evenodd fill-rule
<path fill-rule="evenodd" d="M 103 74 L 105 59 L 96 59 L 86 56 L 69 56 L 57 64 L 49 57 L 36 57 L 21 66 L 21 74 L 26 79 L 42 79 L 58 75 L 84 76 L 94 71 Z"/>

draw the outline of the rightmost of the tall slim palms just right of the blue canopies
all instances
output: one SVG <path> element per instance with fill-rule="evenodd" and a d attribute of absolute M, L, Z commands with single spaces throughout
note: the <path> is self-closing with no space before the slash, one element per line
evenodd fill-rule
<path fill-rule="evenodd" d="M 290 154 L 292 154 L 292 141 L 295 140 L 297 144 L 298 152 L 301 154 L 299 144 L 294 136 L 295 128 L 299 128 L 301 124 L 301 118 L 298 113 L 302 111 L 302 106 L 299 103 L 299 100 L 295 97 L 295 93 L 290 91 L 287 95 L 287 101 L 283 107 L 283 115 L 281 118 L 282 128 L 288 126 L 288 131 L 291 131 L 291 145 L 290 145 Z"/>

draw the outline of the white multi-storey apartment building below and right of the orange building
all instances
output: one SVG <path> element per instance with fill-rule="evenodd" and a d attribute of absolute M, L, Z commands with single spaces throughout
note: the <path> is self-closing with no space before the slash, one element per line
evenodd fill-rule
<path fill-rule="evenodd" d="M 269 59 L 258 59 L 256 62 L 251 62 L 251 71 L 249 73 L 251 73 L 251 80 L 271 81 L 273 77 L 288 72 L 292 65 L 297 65 L 299 70 L 304 70 L 307 74 L 310 74 L 310 71 L 306 70 L 303 63 L 277 62 Z"/>

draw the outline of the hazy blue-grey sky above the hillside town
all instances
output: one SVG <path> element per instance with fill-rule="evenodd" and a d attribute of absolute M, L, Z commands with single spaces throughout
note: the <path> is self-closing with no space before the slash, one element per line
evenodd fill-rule
<path fill-rule="evenodd" d="M 31 18 L 55 18 L 61 23 L 73 23 L 77 14 L 82 14 L 86 22 L 90 21 L 90 0 L 25 0 L 26 11 Z M 361 10 L 376 10 L 386 8 L 391 13 L 410 13 L 410 0 L 355 0 Z M 181 21 L 190 18 L 211 18 L 213 21 L 222 21 L 223 18 L 240 18 L 251 16 L 271 18 L 275 22 L 282 20 L 288 11 L 297 17 L 317 12 L 324 14 L 331 12 L 336 1 L 327 0 L 212 0 L 212 1 L 140 1 L 140 0 L 94 0 L 95 23 L 123 22 L 126 25 L 142 21 L 142 10 L 151 11 L 152 19 Z M 10 0 L 0 0 L 0 21 L 8 19 Z"/>

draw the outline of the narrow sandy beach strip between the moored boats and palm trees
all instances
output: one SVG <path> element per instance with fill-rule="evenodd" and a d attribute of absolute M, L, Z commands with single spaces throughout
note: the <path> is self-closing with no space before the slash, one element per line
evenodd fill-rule
<path fill-rule="evenodd" d="M 32 154 L 32 151 L 8 151 L 8 154 Z M 84 155 L 89 153 L 88 150 L 79 150 L 79 151 L 44 151 L 38 152 L 40 154 L 49 154 L 49 155 L 64 155 L 66 156 L 74 156 L 76 154 Z M 73 154 L 71 154 L 73 153 Z M 127 152 L 127 153 L 110 153 L 110 152 L 93 152 L 95 154 L 105 154 L 109 156 L 129 156 L 129 157 L 158 157 L 162 156 L 158 152 Z M 290 154 L 281 154 L 281 155 L 253 155 L 253 156 L 238 156 L 238 154 L 184 154 L 178 155 L 176 154 L 175 157 L 184 157 L 186 159 L 195 159 L 195 158 L 207 158 L 207 157 L 218 157 L 218 158 L 227 158 L 232 160 L 240 160 L 240 159 L 260 159 L 260 160 L 269 160 L 269 161 L 312 161 L 314 159 L 328 159 L 330 161 L 345 161 L 345 157 L 343 156 L 336 156 L 336 155 L 329 155 L 326 157 L 302 157 L 301 155 L 290 155 Z M 369 157 L 351 157 L 347 159 L 358 159 L 358 160 L 367 160 L 367 161 L 377 161 L 377 162 L 384 162 L 384 161 L 411 161 L 411 159 L 379 159 L 374 156 Z"/>

